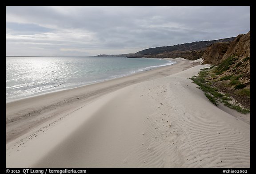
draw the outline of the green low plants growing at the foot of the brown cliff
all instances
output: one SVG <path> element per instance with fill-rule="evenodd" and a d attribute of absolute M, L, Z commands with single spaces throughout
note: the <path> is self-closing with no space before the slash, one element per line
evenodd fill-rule
<path fill-rule="evenodd" d="M 220 64 L 220 66 L 211 66 L 210 68 L 201 69 L 198 73 L 198 76 L 193 76 L 190 79 L 199 86 L 199 88 L 204 91 L 204 95 L 211 101 L 213 104 L 218 106 L 220 102 L 224 103 L 224 105 L 229 108 L 235 109 L 236 111 L 246 114 L 250 112 L 248 108 L 242 108 L 240 105 L 233 104 L 233 99 L 223 92 L 219 92 L 219 90 L 213 85 L 214 82 L 218 81 L 230 81 L 229 87 L 234 85 L 234 89 L 236 90 L 236 95 L 240 97 L 248 97 L 250 96 L 250 89 L 243 89 L 245 87 L 239 81 L 239 78 L 242 75 L 227 75 L 223 77 L 219 77 L 221 73 L 225 70 L 228 70 L 229 66 L 236 60 L 234 57 L 229 57 L 227 61 L 224 61 Z M 214 75 L 213 75 L 214 74 Z"/>

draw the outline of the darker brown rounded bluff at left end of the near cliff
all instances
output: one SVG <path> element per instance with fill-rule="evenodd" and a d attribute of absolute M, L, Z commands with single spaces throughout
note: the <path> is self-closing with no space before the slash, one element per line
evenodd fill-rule
<path fill-rule="evenodd" d="M 213 43 L 208 46 L 202 56 L 203 64 L 218 65 L 230 44 L 231 42 Z"/>

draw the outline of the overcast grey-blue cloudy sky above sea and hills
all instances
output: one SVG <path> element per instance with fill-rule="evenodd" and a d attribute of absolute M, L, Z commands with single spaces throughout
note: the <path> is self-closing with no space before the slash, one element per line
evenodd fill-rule
<path fill-rule="evenodd" d="M 250 30 L 250 6 L 6 6 L 6 55 L 90 56 Z"/>

